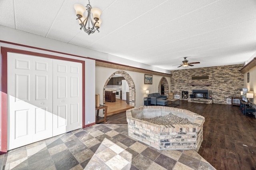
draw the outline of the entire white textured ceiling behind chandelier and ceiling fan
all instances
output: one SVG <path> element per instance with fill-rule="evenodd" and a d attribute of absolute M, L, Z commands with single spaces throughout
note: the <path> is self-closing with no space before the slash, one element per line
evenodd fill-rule
<path fill-rule="evenodd" d="M 256 0 L 90 0 L 100 33 L 80 30 L 74 4 L 0 0 L 0 25 L 167 70 L 244 63 L 256 53 Z M 176 66 L 173 66 L 176 65 Z"/>

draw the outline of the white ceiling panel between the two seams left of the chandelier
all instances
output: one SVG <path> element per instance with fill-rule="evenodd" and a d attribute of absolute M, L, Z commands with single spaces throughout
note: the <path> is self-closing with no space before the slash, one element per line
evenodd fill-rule
<path fill-rule="evenodd" d="M 16 29 L 46 36 L 64 0 L 15 0 Z"/>

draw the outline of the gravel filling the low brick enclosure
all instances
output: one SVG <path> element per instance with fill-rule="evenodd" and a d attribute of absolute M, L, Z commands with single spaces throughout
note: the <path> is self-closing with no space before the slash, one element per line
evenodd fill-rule
<path fill-rule="evenodd" d="M 178 116 L 172 115 L 171 113 L 166 116 L 158 116 L 150 119 L 144 118 L 143 121 L 154 123 L 157 125 L 189 125 L 192 124 L 187 118 L 180 118 Z"/>

